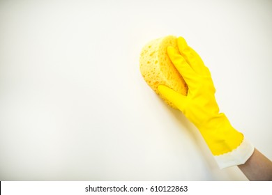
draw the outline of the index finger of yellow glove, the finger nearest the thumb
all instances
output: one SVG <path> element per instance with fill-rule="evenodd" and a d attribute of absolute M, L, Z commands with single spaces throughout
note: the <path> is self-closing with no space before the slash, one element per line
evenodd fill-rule
<path fill-rule="evenodd" d="M 197 79 L 195 71 L 192 70 L 183 56 L 181 56 L 181 54 L 179 54 L 174 47 L 167 47 L 167 54 L 176 67 L 176 70 L 179 71 L 179 74 L 181 74 L 183 79 L 186 81 L 186 84 L 190 88 L 190 86 L 196 82 L 195 79 Z"/>

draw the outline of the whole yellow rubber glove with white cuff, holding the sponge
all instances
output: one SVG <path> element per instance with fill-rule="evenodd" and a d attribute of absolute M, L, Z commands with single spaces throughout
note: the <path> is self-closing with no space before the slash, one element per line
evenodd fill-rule
<path fill-rule="evenodd" d="M 167 53 L 186 81 L 188 95 L 162 85 L 158 91 L 195 124 L 220 168 L 245 163 L 254 147 L 232 127 L 225 114 L 219 113 L 211 73 L 202 59 L 184 38 L 179 37 L 177 43 L 179 51 L 168 47 Z"/>

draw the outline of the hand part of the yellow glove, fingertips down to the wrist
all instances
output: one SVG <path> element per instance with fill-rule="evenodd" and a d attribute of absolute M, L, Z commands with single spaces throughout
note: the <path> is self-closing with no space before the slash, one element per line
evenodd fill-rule
<path fill-rule="evenodd" d="M 160 93 L 199 127 L 219 113 L 215 99 L 211 73 L 199 55 L 191 49 L 183 38 L 178 38 L 179 51 L 168 47 L 167 53 L 174 66 L 188 84 L 188 95 L 176 93 L 167 86 L 158 86 Z M 179 53 L 180 52 L 180 53 Z"/>

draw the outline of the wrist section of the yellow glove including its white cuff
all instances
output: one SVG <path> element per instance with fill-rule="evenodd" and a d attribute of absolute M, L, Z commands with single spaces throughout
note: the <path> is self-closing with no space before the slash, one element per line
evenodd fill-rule
<path fill-rule="evenodd" d="M 220 169 L 244 164 L 254 151 L 254 146 L 232 127 L 225 114 L 214 116 L 198 129 Z"/>

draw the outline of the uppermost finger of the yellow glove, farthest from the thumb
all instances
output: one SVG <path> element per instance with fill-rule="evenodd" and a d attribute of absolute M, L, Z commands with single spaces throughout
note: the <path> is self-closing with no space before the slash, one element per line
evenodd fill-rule
<path fill-rule="evenodd" d="M 199 75 L 204 75 L 206 73 L 206 66 L 204 65 L 200 56 L 195 52 L 194 49 L 187 45 L 184 38 L 178 38 L 179 52 L 186 59 L 186 62 L 192 67 L 193 70 Z"/>

